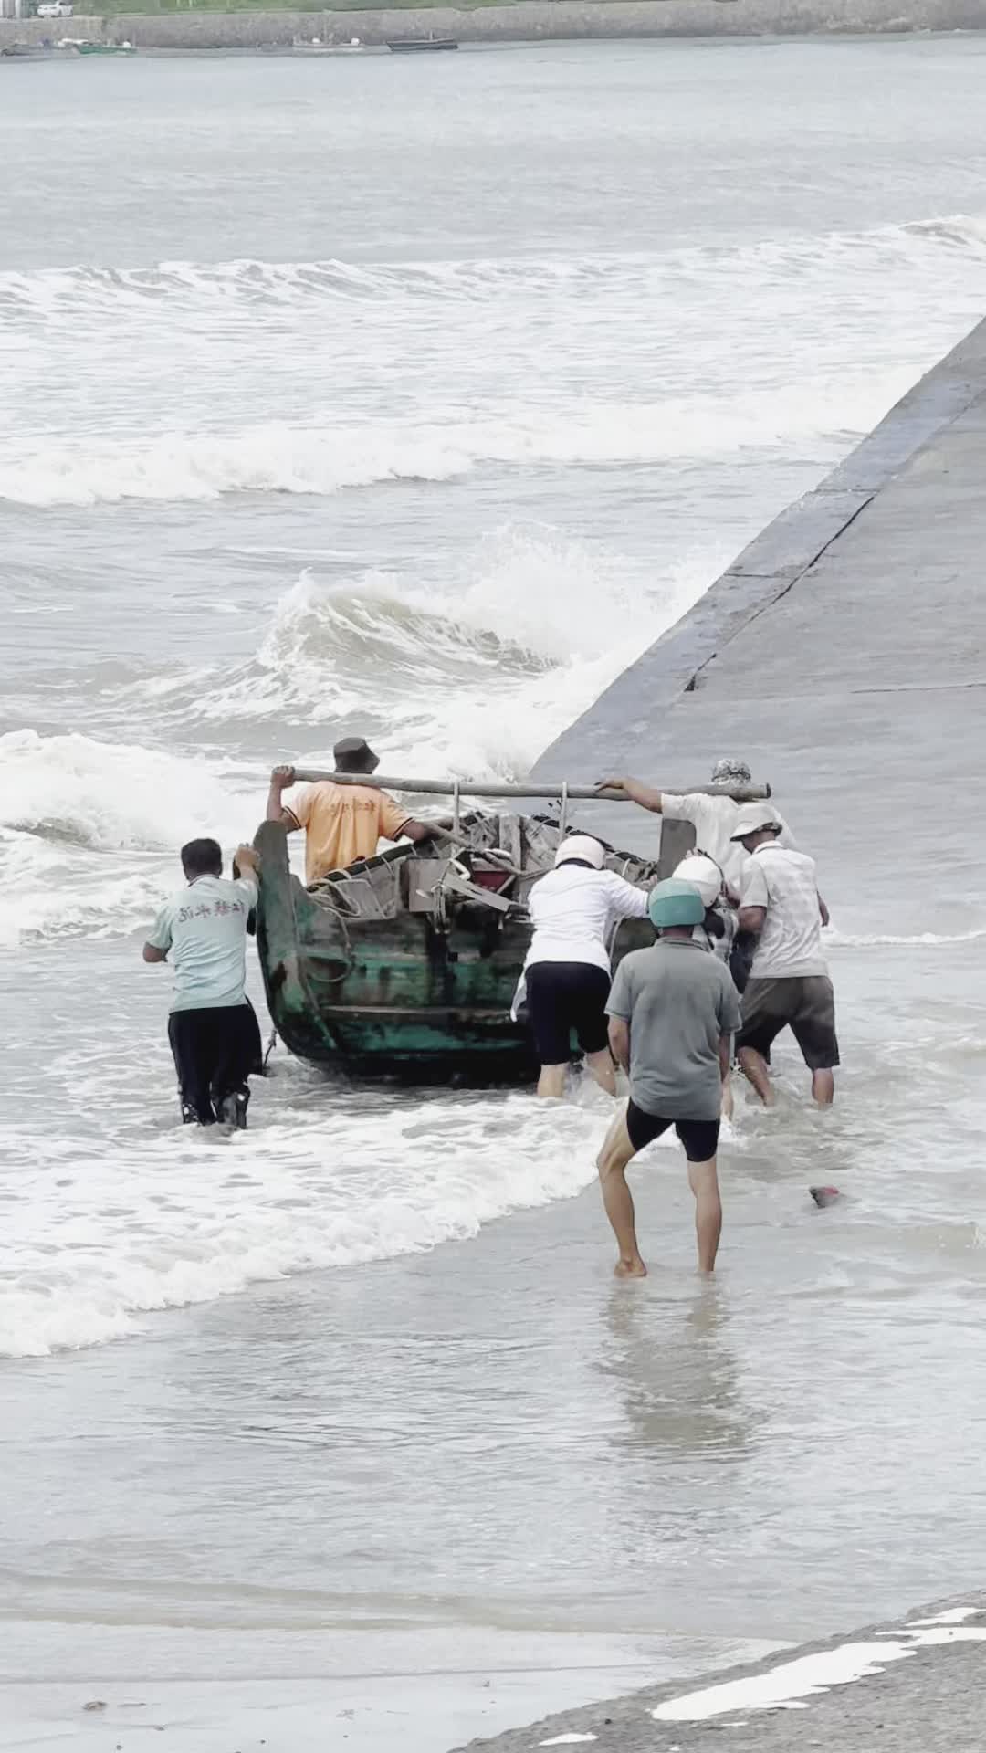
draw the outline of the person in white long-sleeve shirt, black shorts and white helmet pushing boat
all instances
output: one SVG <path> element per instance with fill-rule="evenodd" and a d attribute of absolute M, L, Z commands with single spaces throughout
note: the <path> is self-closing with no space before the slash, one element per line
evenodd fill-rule
<path fill-rule="evenodd" d="M 561 1096 L 575 1034 L 586 1064 L 609 1096 L 616 1073 L 605 1006 L 611 940 L 621 919 L 646 919 L 647 894 L 604 869 L 591 834 L 570 834 L 554 869 L 530 892 L 533 940 L 525 962 L 528 1011 L 540 1059 L 539 1096 Z"/>

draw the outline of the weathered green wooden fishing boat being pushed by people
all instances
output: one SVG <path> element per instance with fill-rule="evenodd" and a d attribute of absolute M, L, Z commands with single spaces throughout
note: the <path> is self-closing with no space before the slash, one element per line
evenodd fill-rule
<path fill-rule="evenodd" d="M 263 822 L 256 941 L 284 1045 L 358 1076 L 475 1085 L 530 1078 L 533 1047 L 511 1017 L 532 938 L 526 899 L 574 831 L 568 801 L 597 792 L 563 787 L 558 808 L 558 787 L 472 785 L 470 798 L 542 796 L 556 808 L 465 813 L 454 782 L 298 771 L 298 780 L 321 778 L 451 792 L 454 815 L 451 833 L 361 859 L 312 889 L 289 869 L 282 824 Z M 660 862 L 632 852 L 611 850 L 605 862 L 640 887 L 661 875 Z M 649 941 L 646 922 L 625 920 L 614 961 Z"/>

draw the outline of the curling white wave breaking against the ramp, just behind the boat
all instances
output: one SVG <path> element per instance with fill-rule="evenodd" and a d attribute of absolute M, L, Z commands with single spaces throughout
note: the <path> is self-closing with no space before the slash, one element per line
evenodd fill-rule
<path fill-rule="evenodd" d="M 268 752 L 328 759 L 342 726 L 372 733 L 405 771 L 512 778 L 716 577 L 725 550 L 697 550 L 640 578 L 619 557 L 549 528 L 507 528 L 451 578 L 386 571 L 325 582 L 312 570 L 274 603 L 246 663 L 172 670 L 130 684 L 182 736 L 261 727 Z M 263 726 L 268 726 L 263 733 Z M 316 764 L 312 761 L 312 764 Z"/>

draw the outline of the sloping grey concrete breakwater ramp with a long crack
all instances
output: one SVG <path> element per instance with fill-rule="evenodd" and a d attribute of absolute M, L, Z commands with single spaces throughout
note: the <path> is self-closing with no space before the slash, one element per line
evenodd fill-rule
<path fill-rule="evenodd" d="M 744 754 L 840 922 L 986 924 L 986 323 L 546 752 L 668 789 Z M 614 834 L 640 813 L 600 812 Z M 928 861 L 947 843 L 947 869 Z M 933 915 L 933 919 L 932 919 Z M 960 927 L 958 927 L 960 929 Z"/>

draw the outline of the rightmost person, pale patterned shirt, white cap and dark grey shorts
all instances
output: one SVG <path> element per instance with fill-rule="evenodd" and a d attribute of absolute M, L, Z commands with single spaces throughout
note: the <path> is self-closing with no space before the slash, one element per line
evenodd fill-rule
<path fill-rule="evenodd" d="M 791 1029 L 811 1069 L 812 1096 L 826 1108 L 839 1064 L 835 997 L 821 954 L 828 908 L 818 892 L 814 859 L 777 845 L 779 833 L 770 805 L 740 806 L 733 840 L 749 857 L 739 926 L 756 936 L 756 950 L 742 996 L 737 1057 L 761 1103 L 772 1108 L 770 1048 L 782 1029 Z"/>

